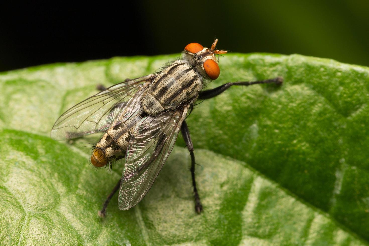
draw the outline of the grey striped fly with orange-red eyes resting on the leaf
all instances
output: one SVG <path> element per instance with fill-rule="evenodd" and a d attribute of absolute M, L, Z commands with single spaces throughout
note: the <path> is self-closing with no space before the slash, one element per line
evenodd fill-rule
<path fill-rule="evenodd" d="M 213 98 L 231 86 L 251 84 L 281 84 L 282 78 L 230 82 L 215 89 L 204 90 L 218 78 L 218 56 L 227 53 L 197 43 L 188 44 L 182 58 L 166 65 L 161 71 L 127 79 L 67 110 L 55 122 L 51 137 L 57 140 L 76 138 L 95 132 L 104 132 L 93 148 L 91 163 L 104 167 L 124 160 L 123 175 L 108 195 L 99 216 L 119 189 L 118 205 L 121 210 L 135 206 L 146 195 L 163 164 L 172 151 L 179 131 L 191 157 L 191 176 L 195 211 L 202 206 L 195 181 L 195 156 L 186 116 L 195 101 Z"/>

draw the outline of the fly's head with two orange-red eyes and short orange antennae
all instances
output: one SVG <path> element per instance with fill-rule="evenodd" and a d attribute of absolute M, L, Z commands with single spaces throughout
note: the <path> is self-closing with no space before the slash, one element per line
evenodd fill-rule
<path fill-rule="evenodd" d="M 188 60 L 190 66 L 195 68 L 206 79 L 215 80 L 219 77 L 220 69 L 215 55 L 227 53 L 215 49 L 218 39 L 215 39 L 211 48 L 203 47 L 197 43 L 191 43 L 184 48 L 184 57 Z"/>

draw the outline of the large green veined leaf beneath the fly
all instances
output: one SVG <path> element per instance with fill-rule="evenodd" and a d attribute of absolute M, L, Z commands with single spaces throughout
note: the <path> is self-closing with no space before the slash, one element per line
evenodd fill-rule
<path fill-rule="evenodd" d="M 69 107 L 176 55 L 60 63 L 0 74 L 1 245 L 366 245 L 369 68 L 300 55 L 227 54 L 231 87 L 188 118 L 204 212 L 194 212 L 179 138 L 146 197 L 97 211 L 122 166 L 94 170 L 86 142 L 49 138 Z M 88 145 L 88 144 L 87 144 Z"/>

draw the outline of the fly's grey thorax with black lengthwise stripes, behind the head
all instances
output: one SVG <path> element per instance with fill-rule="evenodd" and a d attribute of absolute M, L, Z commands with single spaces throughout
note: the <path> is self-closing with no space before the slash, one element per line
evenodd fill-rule
<path fill-rule="evenodd" d="M 191 100 L 201 89 L 202 81 L 198 73 L 188 64 L 179 61 L 163 70 L 154 80 L 142 106 L 149 115 L 157 115 Z"/>

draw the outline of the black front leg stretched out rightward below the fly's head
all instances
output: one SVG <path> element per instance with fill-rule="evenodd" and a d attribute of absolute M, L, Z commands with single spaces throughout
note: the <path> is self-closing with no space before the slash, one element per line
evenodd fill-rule
<path fill-rule="evenodd" d="M 219 94 L 223 93 L 225 90 L 227 90 L 231 86 L 251 86 L 252 84 L 282 84 L 283 79 L 282 77 L 276 77 L 274 79 L 267 79 L 267 80 L 259 80 L 259 81 L 244 81 L 244 82 L 229 82 L 226 84 L 222 84 L 221 86 L 218 86 L 211 90 L 205 90 L 200 91 L 199 98 L 200 100 L 205 100 L 209 98 L 213 98 L 218 96 Z"/>

